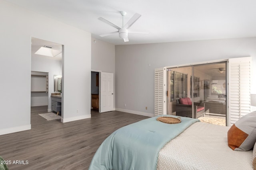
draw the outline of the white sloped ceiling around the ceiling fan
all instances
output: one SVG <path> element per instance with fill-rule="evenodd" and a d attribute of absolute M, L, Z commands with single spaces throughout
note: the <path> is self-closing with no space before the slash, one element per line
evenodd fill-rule
<path fill-rule="evenodd" d="M 193 41 L 256 36 L 256 0 L 6 0 L 92 33 L 114 45 Z M 129 34 L 124 43 L 117 29 L 99 17 L 122 26 L 135 13 L 142 16 L 130 27 L 150 34 Z"/>

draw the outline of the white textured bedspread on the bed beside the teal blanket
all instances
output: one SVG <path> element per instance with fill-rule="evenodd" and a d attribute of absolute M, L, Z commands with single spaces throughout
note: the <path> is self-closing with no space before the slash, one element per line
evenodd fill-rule
<path fill-rule="evenodd" d="M 194 123 L 160 150 L 157 170 L 252 170 L 252 150 L 230 149 L 228 129 Z"/>

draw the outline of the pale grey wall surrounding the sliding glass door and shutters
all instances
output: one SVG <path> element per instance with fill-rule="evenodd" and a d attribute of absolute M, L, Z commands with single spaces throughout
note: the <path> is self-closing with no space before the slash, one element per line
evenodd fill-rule
<path fill-rule="evenodd" d="M 248 56 L 255 73 L 255 37 L 116 45 L 116 109 L 154 113 L 154 68 Z M 252 92 L 256 92 L 255 74 L 252 80 Z"/>

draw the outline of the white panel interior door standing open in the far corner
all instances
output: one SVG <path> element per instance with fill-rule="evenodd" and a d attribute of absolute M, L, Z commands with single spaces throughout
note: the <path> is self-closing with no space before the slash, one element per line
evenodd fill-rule
<path fill-rule="evenodd" d="M 114 110 L 114 74 L 101 72 L 100 78 L 100 112 Z"/>

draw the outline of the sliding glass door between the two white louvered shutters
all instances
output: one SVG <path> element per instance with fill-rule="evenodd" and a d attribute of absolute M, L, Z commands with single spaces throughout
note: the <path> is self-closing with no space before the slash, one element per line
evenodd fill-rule
<path fill-rule="evenodd" d="M 167 113 L 227 125 L 227 62 L 168 68 Z"/>

